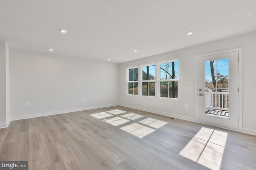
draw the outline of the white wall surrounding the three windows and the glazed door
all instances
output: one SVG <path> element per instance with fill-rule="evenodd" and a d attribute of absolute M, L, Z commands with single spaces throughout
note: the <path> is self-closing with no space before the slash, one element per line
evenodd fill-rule
<path fill-rule="evenodd" d="M 195 56 L 237 47 L 243 47 L 243 131 L 256 135 L 256 32 L 119 64 L 120 105 L 195 121 Z M 126 95 L 126 68 L 171 59 L 179 59 L 178 99 Z M 185 87 L 192 87 L 193 91 L 185 91 Z"/>

